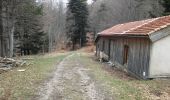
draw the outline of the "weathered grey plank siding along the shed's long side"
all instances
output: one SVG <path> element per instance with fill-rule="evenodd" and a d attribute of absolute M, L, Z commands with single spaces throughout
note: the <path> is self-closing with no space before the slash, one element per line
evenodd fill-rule
<path fill-rule="evenodd" d="M 109 43 L 110 40 L 110 43 Z M 148 78 L 150 59 L 150 40 L 147 38 L 100 38 L 97 42 L 99 48 L 103 46 L 101 41 L 105 41 L 104 53 L 107 54 L 114 64 L 118 64 L 129 73 L 137 77 Z M 110 44 L 110 49 L 109 49 Z M 128 61 L 123 64 L 124 46 L 128 46 Z M 100 52 L 102 49 L 98 49 Z M 109 55 L 110 50 L 110 55 Z"/>

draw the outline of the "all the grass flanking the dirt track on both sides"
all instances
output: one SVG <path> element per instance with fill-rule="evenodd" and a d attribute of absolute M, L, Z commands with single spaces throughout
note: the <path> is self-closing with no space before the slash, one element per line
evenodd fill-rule
<path fill-rule="evenodd" d="M 107 69 L 107 65 L 92 59 L 91 54 L 80 53 L 79 59 L 90 69 L 92 77 L 104 86 L 115 100 L 170 100 L 170 81 L 168 79 L 137 80 L 129 76 L 122 77 L 123 72 Z M 66 55 L 33 56 L 34 64 L 28 67 L 15 68 L 0 74 L 0 100 L 32 100 L 36 97 L 39 86 L 50 77 Z M 77 59 L 75 55 L 73 59 Z M 18 69 L 26 69 L 18 72 Z M 168 98 L 168 99 L 167 99 Z"/>

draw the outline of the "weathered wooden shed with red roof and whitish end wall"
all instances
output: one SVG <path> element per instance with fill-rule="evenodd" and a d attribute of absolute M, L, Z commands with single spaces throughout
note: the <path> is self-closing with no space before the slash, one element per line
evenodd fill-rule
<path fill-rule="evenodd" d="M 170 16 L 119 24 L 97 34 L 96 56 L 142 79 L 170 77 Z"/>

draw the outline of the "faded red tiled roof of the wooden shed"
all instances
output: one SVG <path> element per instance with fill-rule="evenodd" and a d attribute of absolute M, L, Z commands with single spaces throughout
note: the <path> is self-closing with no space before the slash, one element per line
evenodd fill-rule
<path fill-rule="evenodd" d="M 170 16 L 115 25 L 100 33 L 99 36 L 149 35 L 170 25 Z"/>

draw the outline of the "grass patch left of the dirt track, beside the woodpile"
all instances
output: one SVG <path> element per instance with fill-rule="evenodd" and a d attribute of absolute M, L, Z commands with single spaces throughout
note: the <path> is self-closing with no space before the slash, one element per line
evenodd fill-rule
<path fill-rule="evenodd" d="M 46 80 L 65 55 L 34 56 L 33 65 L 15 68 L 0 74 L 0 100 L 32 100 L 38 87 Z M 26 69 L 18 72 L 18 69 Z"/>

